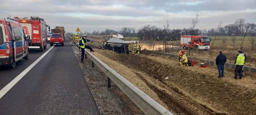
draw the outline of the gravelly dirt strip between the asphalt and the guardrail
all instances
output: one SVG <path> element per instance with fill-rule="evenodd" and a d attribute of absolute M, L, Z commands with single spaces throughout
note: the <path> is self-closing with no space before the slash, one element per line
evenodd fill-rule
<path fill-rule="evenodd" d="M 81 63 L 81 52 L 72 48 L 101 115 L 144 115 L 114 83 L 107 87 L 108 77 L 98 66 L 92 68 L 92 60 L 87 58 Z"/>

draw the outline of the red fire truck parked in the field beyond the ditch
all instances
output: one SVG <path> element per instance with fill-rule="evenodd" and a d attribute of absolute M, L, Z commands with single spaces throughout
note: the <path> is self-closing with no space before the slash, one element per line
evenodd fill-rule
<path fill-rule="evenodd" d="M 210 41 L 211 38 L 208 36 L 200 36 L 200 35 L 181 35 L 180 36 L 180 46 L 184 49 L 194 48 L 196 50 L 210 49 Z"/>

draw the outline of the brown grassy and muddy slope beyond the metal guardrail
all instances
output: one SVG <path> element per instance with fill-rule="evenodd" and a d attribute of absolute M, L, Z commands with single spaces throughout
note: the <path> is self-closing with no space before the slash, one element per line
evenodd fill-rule
<path fill-rule="evenodd" d="M 233 72 L 225 72 L 219 79 L 216 69 L 180 67 L 175 60 L 144 54 L 96 50 L 93 55 L 174 114 L 256 114 L 253 77 L 234 80 Z"/>

